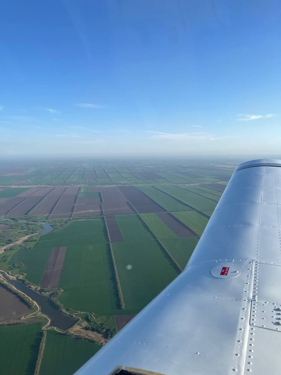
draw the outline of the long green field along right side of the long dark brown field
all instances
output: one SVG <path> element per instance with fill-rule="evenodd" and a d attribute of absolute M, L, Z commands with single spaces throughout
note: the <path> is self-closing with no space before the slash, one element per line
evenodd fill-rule
<path fill-rule="evenodd" d="M 172 196 L 167 195 L 152 186 L 138 186 L 138 189 L 152 198 L 168 211 L 186 211 L 189 209 L 185 204 L 177 201 Z"/>

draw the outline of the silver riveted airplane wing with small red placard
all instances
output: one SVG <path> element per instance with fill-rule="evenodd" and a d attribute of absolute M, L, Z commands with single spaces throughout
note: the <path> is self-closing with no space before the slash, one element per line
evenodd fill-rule
<path fill-rule="evenodd" d="M 237 166 L 185 270 L 77 375 L 279 374 L 281 160 Z"/>

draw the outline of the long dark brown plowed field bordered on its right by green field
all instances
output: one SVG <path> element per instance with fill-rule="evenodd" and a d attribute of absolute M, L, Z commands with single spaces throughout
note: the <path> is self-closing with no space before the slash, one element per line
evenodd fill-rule
<path fill-rule="evenodd" d="M 119 186 L 118 188 L 139 213 L 167 211 L 135 186 Z"/>

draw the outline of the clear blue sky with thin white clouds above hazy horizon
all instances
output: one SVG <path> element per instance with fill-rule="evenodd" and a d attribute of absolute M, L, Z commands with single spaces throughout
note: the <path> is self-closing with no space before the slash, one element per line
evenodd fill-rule
<path fill-rule="evenodd" d="M 9 0 L 0 154 L 279 154 L 275 0 Z"/>

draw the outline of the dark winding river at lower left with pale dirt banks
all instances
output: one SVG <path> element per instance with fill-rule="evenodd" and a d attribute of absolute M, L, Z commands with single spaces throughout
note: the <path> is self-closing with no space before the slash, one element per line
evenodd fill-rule
<path fill-rule="evenodd" d="M 78 321 L 78 319 L 73 318 L 71 315 L 64 314 L 48 297 L 42 296 L 42 294 L 39 294 L 36 291 L 26 287 L 24 284 L 21 284 L 17 280 L 8 279 L 4 273 L 1 273 L 1 275 L 10 284 L 16 287 L 16 289 L 25 293 L 33 301 L 38 303 L 42 313 L 48 315 L 48 317 L 50 318 L 50 327 L 57 327 L 64 331 L 66 329 L 69 329 L 71 326 L 73 326 L 74 323 Z"/>

